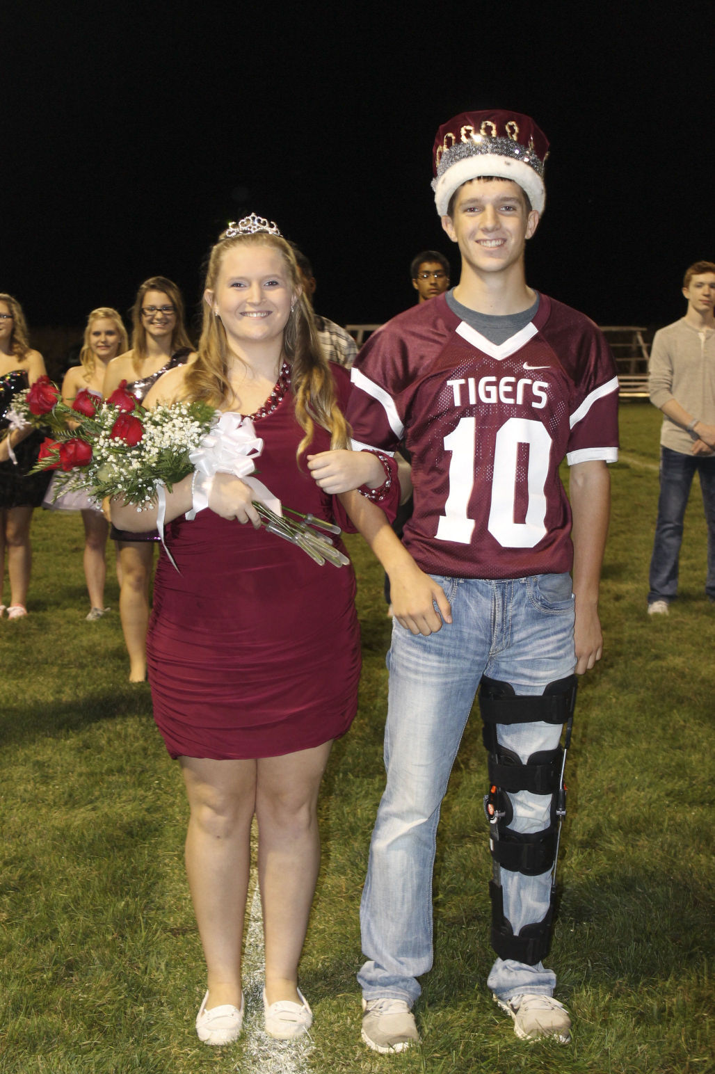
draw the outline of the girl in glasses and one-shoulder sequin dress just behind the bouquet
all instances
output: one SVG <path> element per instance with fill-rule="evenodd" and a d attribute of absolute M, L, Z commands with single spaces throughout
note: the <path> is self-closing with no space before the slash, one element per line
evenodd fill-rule
<path fill-rule="evenodd" d="M 158 378 L 186 362 L 190 353 L 181 293 L 165 276 L 151 276 L 144 280 L 134 300 L 132 349 L 107 365 L 104 397 L 126 380 L 127 390 L 144 400 Z M 113 526 L 111 536 L 117 542 L 119 614 L 129 653 L 129 681 L 143 682 L 156 533 L 133 534 Z"/>

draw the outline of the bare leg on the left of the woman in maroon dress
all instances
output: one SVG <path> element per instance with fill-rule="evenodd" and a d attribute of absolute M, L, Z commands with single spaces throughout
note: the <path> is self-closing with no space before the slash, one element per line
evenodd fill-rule
<path fill-rule="evenodd" d="M 179 760 L 191 807 L 186 871 L 206 958 L 206 1008 L 239 1007 L 257 763 Z"/>

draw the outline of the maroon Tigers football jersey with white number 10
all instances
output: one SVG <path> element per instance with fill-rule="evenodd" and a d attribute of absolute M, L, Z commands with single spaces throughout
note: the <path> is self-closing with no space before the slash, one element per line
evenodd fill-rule
<path fill-rule="evenodd" d="M 352 371 L 355 447 L 412 455 L 404 543 L 423 570 L 525 578 L 571 569 L 571 510 L 558 476 L 617 458 L 613 355 L 583 314 L 546 295 L 492 344 L 443 295 L 375 332 Z"/>

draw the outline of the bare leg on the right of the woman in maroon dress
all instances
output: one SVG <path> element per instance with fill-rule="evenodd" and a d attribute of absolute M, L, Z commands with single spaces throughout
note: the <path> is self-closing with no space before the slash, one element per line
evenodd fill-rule
<path fill-rule="evenodd" d="M 297 964 L 320 866 L 318 792 L 332 742 L 258 761 L 256 816 L 268 1003 L 300 1003 Z"/>

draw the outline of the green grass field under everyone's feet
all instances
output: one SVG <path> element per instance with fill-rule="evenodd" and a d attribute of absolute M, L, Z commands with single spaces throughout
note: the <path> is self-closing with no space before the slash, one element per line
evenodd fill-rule
<path fill-rule="evenodd" d="M 647 404 L 622 407 L 605 651 L 582 681 L 567 766 L 560 906 L 546 961 L 573 1013 L 572 1045 L 519 1042 L 485 987 L 491 869 L 478 717 L 442 812 L 435 969 L 417 1007 L 423 1045 L 379 1057 L 360 1043 L 358 908 L 383 784 L 390 627 L 380 571 L 359 539 L 362 701 L 324 783 L 323 862 L 301 969 L 312 1045 L 297 1068 L 284 1048 L 261 1059 L 242 1041 L 201 1045 L 193 1018 L 204 969 L 184 876 L 179 773 L 155 730 L 148 687 L 127 682 L 116 584 L 112 614 L 86 623 L 82 524 L 37 512 L 31 614 L 0 623 L 2 1074 L 715 1071 L 715 608 L 703 596 L 696 484 L 681 598 L 668 618 L 645 613 L 658 425 Z"/>

